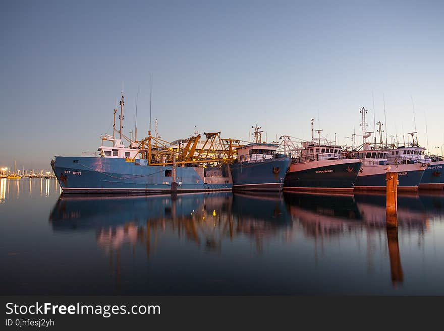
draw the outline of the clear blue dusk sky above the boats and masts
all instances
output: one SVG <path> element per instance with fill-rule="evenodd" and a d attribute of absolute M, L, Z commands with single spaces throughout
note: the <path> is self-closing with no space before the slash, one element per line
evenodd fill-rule
<path fill-rule="evenodd" d="M 442 1 L 10 1 L 2 5 L 0 166 L 48 169 L 112 133 L 122 82 L 124 131 L 152 116 L 169 141 L 194 125 L 248 140 L 324 136 L 350 144 L 359 109 L 388 136 L 444 143 Z M 319 118 L 319 121 L 317 119 Z M 359 137 L 358 137 L 359 139 Z M 390 141 L 390 138 L 389 138 Z"/>

